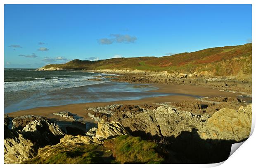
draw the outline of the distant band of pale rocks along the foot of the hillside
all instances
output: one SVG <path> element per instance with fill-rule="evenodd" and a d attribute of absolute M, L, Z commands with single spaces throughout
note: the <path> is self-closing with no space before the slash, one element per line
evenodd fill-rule
<path fill-rule="evenodd" d="M 112 81 L 136 83 L 165 83 L 179 85 L 200 85 L 228 92 L 245 92 L 251 94 L 251 82 L 234 80 L 233 76 L 212 76 L 206 72 L 145 72 L 116 76 Z"/>

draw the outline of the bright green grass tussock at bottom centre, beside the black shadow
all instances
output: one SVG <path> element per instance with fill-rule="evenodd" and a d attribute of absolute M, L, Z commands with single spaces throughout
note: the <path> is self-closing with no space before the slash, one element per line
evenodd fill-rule
<path fill-rule="evenodd" d="M 163 157 L 156 152 L 158 145 L 140 137 L 118 136 L 113 140 L 105 140 L 104 144 L 111 148 L 116 161 L 120 163 L 163 163 Z"/>

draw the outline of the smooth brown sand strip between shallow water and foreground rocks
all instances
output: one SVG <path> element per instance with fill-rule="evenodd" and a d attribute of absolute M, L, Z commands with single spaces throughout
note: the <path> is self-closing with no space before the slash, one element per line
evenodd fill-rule
<path fill-rule="evenodd" d="M 140 105 L 149 104 L 156 105 L 157 103 L 164 102 L 181 102 L 183 100 L 193 100 L 194 96 L 202 97 L 237 97 L 238 93 L 223 92 L 217 89 L 211 89 L 209 87 L 203 86 L 191 86 L 191 85 L 166 85 L 166 84 L 156 84 L 153 85 L 158 87 L 158 90 L 152 90 L 149 92 L 163 92 L 163 93 L 175 93 L 175 94 L 186 94 L 186 95 L 171 95 L 171 96 L 160 96 L 160 97 L 149 97 L 139 100 L 124 100 L 124 101 L 110 101 L 110 102 L 92 102 L 92 103 L 81 103 L 81 104 L 68 104 L 63 106 L 50 106 L 50 107 L 38 107 L 28 110 L 20 110 L 13 113 L 8 113 L 10 117 L 17 117 L 21 115 L 42 115 L 51 119 L 63 120 L 63 118 L 57 117 L 52 113 L 59 111 L 69 111 L 73 114 L 84 117 L 84 120 L 88 122 L 95 123 L 94 120 L 88 117 L 89 107 L 107 106 L 111 104 L 129 104 L 129 105 Z M 77 87 L 79 89 L 79 87 Z M 118 94 L 118 93 L 113 93 Z M 190 96 L 191 95 L 191 96 Z M 205 104 L 202 103 L 202 104 Z"/>

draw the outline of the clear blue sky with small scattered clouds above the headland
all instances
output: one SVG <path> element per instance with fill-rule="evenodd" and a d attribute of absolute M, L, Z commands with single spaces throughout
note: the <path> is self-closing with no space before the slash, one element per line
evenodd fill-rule
<path fill-rule="evenodd" d="M 251 5 L 5 5 L 5 68 L 251 42 Z"/>

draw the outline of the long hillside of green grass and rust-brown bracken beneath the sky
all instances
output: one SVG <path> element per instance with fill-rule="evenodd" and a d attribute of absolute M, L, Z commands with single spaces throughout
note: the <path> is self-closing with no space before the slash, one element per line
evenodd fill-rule
<path fill-rule="evenodd" d="M 236 59 L 238 58 L 238 59 Z M 226 66 L 228 65 L 228 66 Z M 98 61 L 73 60 L 45 68 L 64 69 L 138 69 L 150 71 L 212 71 L 216 76 L 251 74 L 251 43 L 180 53 L 171 56 L 112 58 Z"/>

